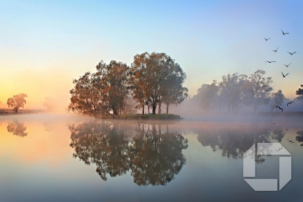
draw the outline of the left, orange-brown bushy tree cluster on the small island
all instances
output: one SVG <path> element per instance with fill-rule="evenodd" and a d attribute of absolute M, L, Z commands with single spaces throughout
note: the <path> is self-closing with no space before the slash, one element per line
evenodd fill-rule
<path fill-rule="evenodd" d="M 129 67 L 112 60 L 108 65 L 101 61 L 96 73 L 86 72 L 73 80 L 68 111 L 89 116 L 118 117 L 128 95 Z"/>

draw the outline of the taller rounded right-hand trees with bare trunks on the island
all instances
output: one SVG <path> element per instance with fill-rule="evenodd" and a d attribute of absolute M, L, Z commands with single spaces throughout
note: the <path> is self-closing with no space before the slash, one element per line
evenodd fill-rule
<path fill-rule="evenodd" d="M 180 103 L 187 96 L 187 88 L 182 84 L 185 73 L 174 60 L 165 53 L 144 52 L 134 56 L 131 67 L 130 86 L 138 108 L 152 107 L 152 114 L 156 113 L 157 104 L 161 113 L 161 103 Z M 174 87 L 171 87 L 172 82 Z"/>

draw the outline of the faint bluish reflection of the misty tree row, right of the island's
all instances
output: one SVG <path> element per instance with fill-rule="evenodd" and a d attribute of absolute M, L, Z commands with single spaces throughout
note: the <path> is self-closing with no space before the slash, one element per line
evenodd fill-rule
<path fill-rule="evenodd" d="M 196 132 L 198 141 L 203 146 L 210 146 L 214 152 L 221 150 L 222 156 L 227 158 L 243 158 L 243 154 L 258 142 L 281 142 L 285 136 L 282 129 L 268 129 L 259 127 L 219 127 L 203 128 Z M 265 159 L 256 156 L 256 162 L 262 163 Z"/>

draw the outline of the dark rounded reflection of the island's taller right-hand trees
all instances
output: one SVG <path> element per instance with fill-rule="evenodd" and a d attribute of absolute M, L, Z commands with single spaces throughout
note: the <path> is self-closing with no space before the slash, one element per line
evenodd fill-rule
<path fill-rule="evenodd" d="M 131 169 L 137 185 L 166 185 L 185 164 L 182 150 L 187 139 L 178 133 L 161 133 L 161 126 L 140 130 L 130 150 Z"/>

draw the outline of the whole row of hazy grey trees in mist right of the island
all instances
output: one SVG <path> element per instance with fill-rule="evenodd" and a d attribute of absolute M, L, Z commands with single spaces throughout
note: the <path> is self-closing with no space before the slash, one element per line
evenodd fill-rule
<path fill-rule="evenodd" d="M 222 76 L 220 82 L 214 80 L 212 84 L 202 84 L 193 99 L 198 100 L 205 111 L 221 111 L 224 108 L 237 111 L 242 106 L 249 106 L 256 112 L 260 105 L 266 105 L 273 111 L 286 99 L 282 90 L 272 92 L 273 81 L 271 77 L 265 77 L 265 74 L 264 70 L 259 69 L 250 76 L 227 74 Z"/>

